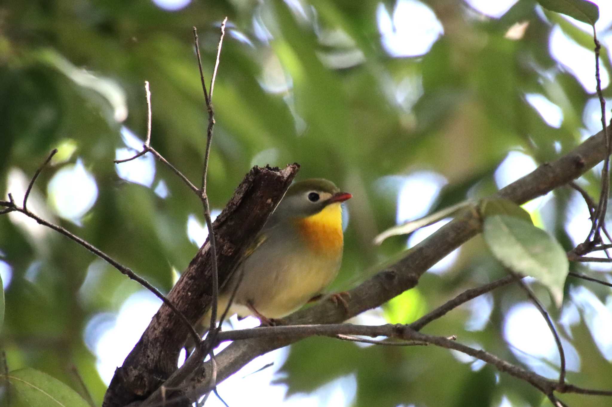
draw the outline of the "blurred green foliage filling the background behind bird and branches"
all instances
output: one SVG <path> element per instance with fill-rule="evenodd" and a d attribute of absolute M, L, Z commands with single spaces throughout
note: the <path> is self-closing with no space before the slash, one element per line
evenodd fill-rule
<path fill-rule="evenodd" d="M 383 6 L 373 0 L 194 1 L 177 12 L 152 2 L 4 0 L 0 191 L 9 192 L 10 171 L 18 168 L 29 177 L 59 147 L 61 159 L 51 163 L 35 187 L 45 207 L 45 200 L 52 199 L 45 192 L 48 181 L 80 158 L 95 178 L 97 200 L 80 223 L 60 220 L 47 209 L 50 220 L 163 292 L 170 290 L 173 268 L 182 270 L 196 253 L 186 225 L 190 214 L 202 220 L 200 201 L 160 164 L 148 188 L 119 178 L 113 159 L 116 149 L 125 148 L 122 126 L 144 139 L 147 80 L 152 146 L 198 184 L 207 117 L 192 26 L 198 27 L 209 77 L 218 24 L 227 15 L 214 92 L 217 125 L 208 184 L 212 206 L 224 206 L 252 165 L 298 162 L 299 178 L 332 179 L 355 196 L 348 206 L 345 259 L 335 283 L 347 289 L 406 249 L 401 236 L 381 247 L 371 244 L 396 218 L 398 187 L 381 187 L 381 177 L 418 170 L 441 174 L 449 184 L 432 211 L 486 196 L 496 189 L 493 173 L 510 149 L 541 163 L 580 143 L 581 115 L 593 97 L 550 56 L 552 24 L 581 45 L 592 46 L 589 34 L 561 16 L 537 12 L 529 0 L 518 1 L 497 19 L 461 1 L 424 3 L 435 12 L 444 35 L 423 56 L 392 57 L 381 45 L 376 21 L 377 7 Z M 394 2 L 382 4 L 392 13 Z M 505 37 L 510 27 L 523 22 L 528 23 L 524 35 Z M 602 66 L 612 72 L 605 49 Z M 548 126 L 527 103 L 526 93 L 541 93 L 561 107 L 561 127 Z M 610 96 L 609 90 L 604 93 Z M 597 196 L 596 173 L 583 179 Z M 166 198 L 154 192 L 162 180 Z M 568 200 L 567 192 L 555 193 L 554 204 L 537 214 L 565 250 L 571 245 L 563 227 L 572 217 Z M 0 254 L 12 270 L 0 335 L 10 370 L 39 369 L 81 391 L 67 370 L 74 365 L 100 403 L 105 384 L 84 342 L 84 328 L 94 315 L 118 311 L 138 285 L 75 243 L 51 231 L 32 232 L 7 216 L 0 217 Z M 425 275 L 384 315 L 392 322 L 409 322 L 461 290 L 502 275 L 477 237 L 461 248 L 447 273 Z M 92 276 L 94 283 L 83 284 Z M 609 300 L 609 289 L 588 287 L 604 303 Z M 545 292 L 539 294 L 547 298 Z M 462 342 L 477 343 L 520 364 L 501 331 L 505 313 L 524 295 L 508 288 L 496 290 L 492 298 L 493 312 L 483 330 L 466 331 L 471 314 L 460 308 L 426 331 L 457 334 Z M 556 309 L 549 311 L 558 319 Z M 581 372 L 569 378 L 583 386 L 610 388 L 610 364 L 583 321 L 584 315 L 572 331 Z M 526 327 L 524 335 L 529 334 Z M 433 347 L 362 348 L 313 338 L 291 347 L 282 367 L 287 374 L 279 381 L 294 394 L 354 373 L 357 406 L 490 406 L 502 397 L 513 405 L 539 405 L 543 400 L 532 387 L 492 367 L 473 372 L 470 366 Z M 568 396 L 567 402 L 602 405 L 601 399 L 578 396 Z"/>

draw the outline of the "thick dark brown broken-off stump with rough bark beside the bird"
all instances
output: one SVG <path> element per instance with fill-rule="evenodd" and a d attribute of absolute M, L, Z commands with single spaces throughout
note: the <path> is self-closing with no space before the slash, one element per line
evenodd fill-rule
<path fill-rule="evenodd" d="M 254 167 L 214 222 L 219 283 L 233 270 L 245 247 L 266 223 L 285 195 L 299 165 Z M 208 240 L 200 248 L 168 299 L 195 324 L 212 300 L 212 267 Z M 103 406 L 125 406 L 144 400 L 176 370 L 187 328 L 162 304 L 136 346 L 119 367 L 106 391 Z"/>

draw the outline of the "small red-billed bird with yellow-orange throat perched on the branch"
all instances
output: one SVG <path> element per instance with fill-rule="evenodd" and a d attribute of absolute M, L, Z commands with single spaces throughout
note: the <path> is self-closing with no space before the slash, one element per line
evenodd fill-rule
<path fill-rule="evenodd" d="M 342 206 L 352 198 L 323 178 L 289 187 L 266 225 L 245 250 L 228 282 L 220 287 L 217 318 L 234 296 L 228 315 L 253 315 L 276 325 L 307 302 L 322 297 L 340 270 L 343 253 Z M 332 295 L 346 307 L 341 294 Z M 206 331 L 211 311 L 198 322 Z"/>

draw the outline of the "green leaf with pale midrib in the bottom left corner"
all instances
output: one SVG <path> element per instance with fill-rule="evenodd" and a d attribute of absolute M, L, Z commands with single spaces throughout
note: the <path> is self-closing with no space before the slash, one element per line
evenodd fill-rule
<path fill-rule="evenodd" d="M 9 372 L 11 397 L 23 406 L 89 407 L 75 391 L 47 373 L 26 367 Z"/>

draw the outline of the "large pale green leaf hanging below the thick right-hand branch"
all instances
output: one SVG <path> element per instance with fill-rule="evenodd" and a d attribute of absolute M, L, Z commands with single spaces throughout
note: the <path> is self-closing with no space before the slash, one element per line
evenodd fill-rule
<path fill-rule="evenodd" d="M 485 242 L 493 256 L 515 273 L 534 277 L 544 284 L 557 306 L 569 272 L 565 251 L 547 232 L 509 215 L 485 219 Z"/>

